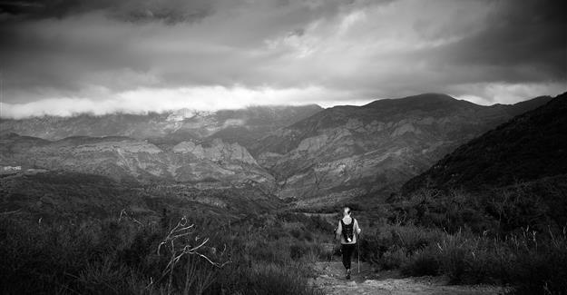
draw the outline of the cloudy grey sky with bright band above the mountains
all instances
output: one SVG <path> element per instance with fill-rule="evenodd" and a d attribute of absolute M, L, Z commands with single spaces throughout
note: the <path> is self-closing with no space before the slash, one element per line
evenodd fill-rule
<path fill-rule="evenodd" d="M 564 3 L 0 0 L 0 115 L 515 103 L 567 91 Z"/>

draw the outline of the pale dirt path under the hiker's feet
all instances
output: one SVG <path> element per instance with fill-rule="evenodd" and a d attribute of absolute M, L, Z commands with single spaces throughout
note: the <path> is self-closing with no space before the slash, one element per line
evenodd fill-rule
<path fill-rule="evenodd" d="M 504 291 L 503 288 L 494 286 L 447 285 L 447 281 L 440 277 L 400 278 L 394 271 L 375 272 L 367 263 L 360 264 L 358 273 L 356 261 L 353 264 L 351 280 L 345 279 L 345 270 L 339 261 L 317 262 L 315 270 L 318 277 L 311 279 L 310 283 L 330 295 L 496 295 Z"/>

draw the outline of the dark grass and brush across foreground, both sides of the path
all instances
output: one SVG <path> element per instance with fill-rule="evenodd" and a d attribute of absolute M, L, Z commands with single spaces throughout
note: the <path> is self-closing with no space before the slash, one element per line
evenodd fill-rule
<path fill-rule="evenodd" d="M 483 196 L 421 191 L 406 201 L 352 203 L 364 230 L 361 258 L 377 270 L 400 270 L 407 276 L 445 275 L 454 283 L 506 284 L 517 294 L 565 293 L 567 223 L 558 218 L 561 214 L 551 213 L 560 212 L 560 205 L 539 199 L 565 195 L 563 180 L 552 178 Z M 543 187 L 549 190 L 542 191 Z M 334 227 L 329 220 L 335 221 L 336 214 L 270 211 L 220 219 L 213 218 L 209 207 L 199 208 L 180 207 L 157 216 L 123 211 L 101 218 L 44 220 L 24 211 L 4 213 L 0 291 L 318 293 L 308 285 L 308 278 L 317 275 L 310 265 L 333 255 L 327 246 Z M 186 213 L 187 224 L 195 224 L 195 231 L 176 240 L 173 248 L 162 246 L 158 254 L 161 241 Z M 209 241 L 199 252 L 218 266 L 197 255 L 182 255 L 172 268 L 168 266 L 174 252 L 179 255 L 184 245 L 199 245 L 203 239 Z"/>

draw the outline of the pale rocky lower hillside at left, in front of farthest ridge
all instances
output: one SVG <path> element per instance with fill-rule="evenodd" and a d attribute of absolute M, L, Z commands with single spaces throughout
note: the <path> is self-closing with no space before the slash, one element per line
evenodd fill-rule
<path fill-rule="evenodd" d="M 254 182 L 271 190 L 273 177 L 246 148 L 220 139 L 158 147 L 129 137 L 69 137 L 46 141 L 10 133 L 0 138 L 0 162 L 50 171 L 92 173 L 119 181 Z"/>

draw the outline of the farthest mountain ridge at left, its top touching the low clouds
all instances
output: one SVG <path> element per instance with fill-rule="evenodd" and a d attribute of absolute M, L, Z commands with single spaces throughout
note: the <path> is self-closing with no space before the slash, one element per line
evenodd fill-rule
<path fill-rule="evenodd" d="M 71 136 L 128 136 L 152 143 L 181 143 L 188 140 L 220 138 L 249 146 L 256 139 L 280 127 L 318 113 L 315 104 L 302 106 L 253 106 L 240 110 L 202 112 L 189 109 L 165 113 L 105 115 L 79 114 L 71 117 L 43 116 L 1 120 L 2 133 L 18 133 L 45 140 Z"/>

